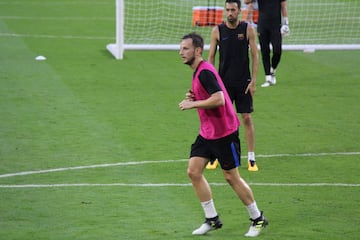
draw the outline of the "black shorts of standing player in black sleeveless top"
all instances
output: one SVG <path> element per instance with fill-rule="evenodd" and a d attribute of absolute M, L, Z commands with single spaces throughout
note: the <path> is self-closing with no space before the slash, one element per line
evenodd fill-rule
<path fill-rule="evenodd" d="M 250 94 L 250 91 L 245 94 L 247 86 L 238 84 L 236 86 L 225 87 L 231 102 L 235 102 L 236 112 L 252 113 L 254 111 L 253 98 Z"/>

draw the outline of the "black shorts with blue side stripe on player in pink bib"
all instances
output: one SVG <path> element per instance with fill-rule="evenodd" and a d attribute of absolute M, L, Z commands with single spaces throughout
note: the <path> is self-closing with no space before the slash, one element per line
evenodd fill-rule
<path fill-rule="evenodd" d="M 239 132 L 236 131 L 229 136 L 207 140 L 198 135 L 195 142 L 191 145 L 191 157 L 204 157 L 214 162 L 218 159 L 220 166 L 224 170 L 230 170 L 241 165 L 241 150 Z"/>

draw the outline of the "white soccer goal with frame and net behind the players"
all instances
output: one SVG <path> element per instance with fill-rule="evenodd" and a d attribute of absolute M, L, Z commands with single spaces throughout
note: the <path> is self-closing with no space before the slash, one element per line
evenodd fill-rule
<path fill-rule="evenodd" d="M 224 5 L 225 0 L 115 0 L 116 42 L 107 49 L 117 59 L 128 49 L 178 49 L 180 38 L 192 31 L 208 48 L 212 27 L 225 19 Z M 291 33 L 283 39 L 285 50 L 360 49 L 360 0 L 288 0 L 287 5 Z"/>

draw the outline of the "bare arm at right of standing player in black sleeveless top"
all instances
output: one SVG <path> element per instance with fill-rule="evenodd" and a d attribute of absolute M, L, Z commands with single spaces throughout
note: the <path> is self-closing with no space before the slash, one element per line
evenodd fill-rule
<path fill-rule="evenodd" d="M 247 27 L 247 36 L 249 40 L 250 45 L 250 52 L 251 52 L 251 82 L 248 85 L 248 87 L 245 90 L 245 93 L 250 91 L 251 95 L 254 96 L 256 91 L 256 78 L 257 78 L 257 72 L 259 67 L 259 53 L 258 48 L 256 44 L 256 33 L 253 26 L 248 24 Z"/>

